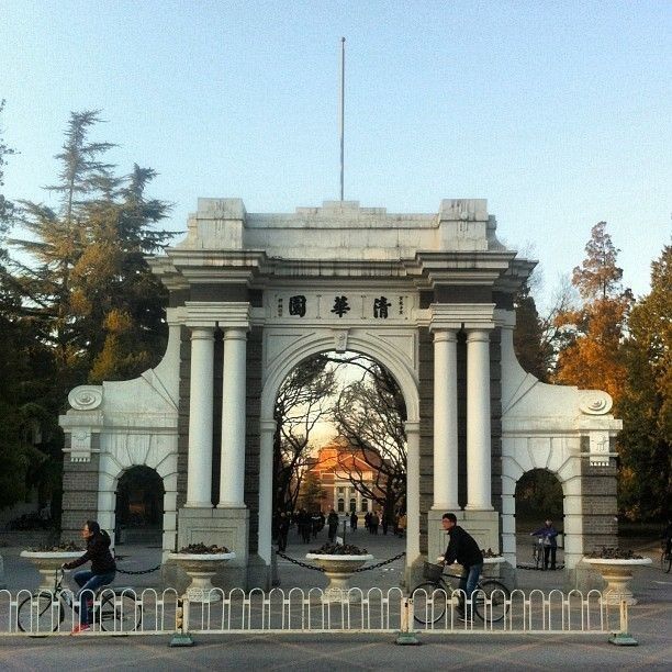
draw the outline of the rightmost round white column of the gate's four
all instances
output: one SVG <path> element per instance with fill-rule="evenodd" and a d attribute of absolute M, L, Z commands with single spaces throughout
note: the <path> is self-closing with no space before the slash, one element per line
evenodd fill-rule
<path fill-rule="evenodd" d="M 467 334 L 467 509 L 492 511 L 490 333 Z"/>

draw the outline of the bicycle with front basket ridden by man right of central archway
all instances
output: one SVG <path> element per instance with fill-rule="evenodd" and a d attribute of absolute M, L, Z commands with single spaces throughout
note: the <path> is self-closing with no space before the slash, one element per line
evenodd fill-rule
<path fill-rule="evenodd" d="M 416 585 L 411 592 L 414 607 L 413 617 L 417 623 L 430 625 L 444 617 L 449 598 L 451 601 L 455 592 L 458 592 L 448 582 L 448 578 L 461 579 L 461 576 L 445 573 L 443 564 L 434 564 L 433 562 L 425 562 L 423 575 L 426 581 Z M 511 591 L 496 579 L 481 578 L 471 598 L 473 612 L 481 620 L 497 623 L 508 613 Z"/>

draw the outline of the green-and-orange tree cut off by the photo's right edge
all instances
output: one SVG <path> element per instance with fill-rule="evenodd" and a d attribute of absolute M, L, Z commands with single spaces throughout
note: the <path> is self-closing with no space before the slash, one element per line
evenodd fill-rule
<path fill-rule="evenodd" d="M 664 520 L 672 515 L 672 246 L 652 262 L 651 291 L 628 326 L 619 505 L 631 518 Z"/>

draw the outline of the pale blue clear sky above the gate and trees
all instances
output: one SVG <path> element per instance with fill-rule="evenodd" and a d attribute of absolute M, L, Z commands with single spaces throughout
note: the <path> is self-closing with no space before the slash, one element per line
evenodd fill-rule
<path fill-rule="evenodd" d="M 648 292 L 672 232 L 672 2 L 0 0 L 0 117 L 20 152 L 4 193 L 42 187 L 70 112 L 183 232 L 200 197 L 248 212 L 339 198 L 435 213 L 488 199 L 539 260 L 541 303 L 607 222 L 624 283 Z"/>

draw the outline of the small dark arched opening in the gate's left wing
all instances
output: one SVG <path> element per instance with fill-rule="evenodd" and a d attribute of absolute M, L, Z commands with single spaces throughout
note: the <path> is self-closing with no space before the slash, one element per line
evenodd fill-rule
<path fill-rule="evenodd" d="M 149 467 L 135 466 L 116 485 L 117 544 L 160 540 L 164 519 L 164 481 Z"/>

